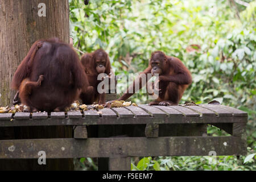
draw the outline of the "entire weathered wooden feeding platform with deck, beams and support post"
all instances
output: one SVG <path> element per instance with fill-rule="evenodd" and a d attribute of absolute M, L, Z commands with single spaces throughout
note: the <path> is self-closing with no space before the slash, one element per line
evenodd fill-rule
<path fill-rule="evenodd" d="M 46 151 L 48 159 L 109 158 L 108 169 L 130 169 L 127 161 L 133 156 L 209 155 L 210 151 L 245 155 L 246 122 L 247 113 L 224 105 L 0 114 L 0 129 L 73 126 L 73 138 L 2 139 L 0 159 L 38 159 L 38 152 Z M 207 124 L 230 135 L 209 137 Z"/>

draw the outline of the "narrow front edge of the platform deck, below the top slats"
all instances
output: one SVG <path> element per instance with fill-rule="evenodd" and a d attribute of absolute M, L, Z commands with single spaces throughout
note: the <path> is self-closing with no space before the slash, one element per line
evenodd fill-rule
<path fill-rule="evenodd" d="M 116 117 L 115 117 L 116 118 Z M 147 123 L 171 123 L 171 124 L 191 124 L 191 123 L 246 123 L 246 117 L 134 117 L 134 118 L 80 118 L 80 119 L 45 119 L 34 120 L 33 119 L 14 119 L 10 122 L 10 119 L 0 120 L 0 127 L 15 127 L 15 126 L 57 126 L 57 125 L 139 125 Z"/>

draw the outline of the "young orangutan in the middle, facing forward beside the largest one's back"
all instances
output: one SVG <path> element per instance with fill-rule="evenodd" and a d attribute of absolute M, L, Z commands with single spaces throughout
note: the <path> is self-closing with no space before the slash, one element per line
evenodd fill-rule
<path fill-rule="evenodd" d="M 93 104 L 97 102 L 102 105 L 105 104 L 105 93 L 98 93 L 97 87 L 102 80 L 98 80 L 98 75 L 105 73 L 110 75 L 111 65 L 108 53 L 103 49 L 97 49 L 92 53 L 86 53 L 81 58 L 84 71 L 88 77 L 89 85 L 93 87 L 92 90 L 82 91 L 80 98 L 83 104 Z"/>

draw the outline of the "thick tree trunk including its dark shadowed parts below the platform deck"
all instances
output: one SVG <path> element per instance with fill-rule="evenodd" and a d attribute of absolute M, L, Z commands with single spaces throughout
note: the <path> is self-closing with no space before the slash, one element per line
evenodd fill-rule
<path fill-rule="evenodd" d="M 44 6 L 46 5 L 46 16 Z M 10 85 L 16 68 L 39 39 L 57 37 L 69 42 L 68 0 L 0 0 L 0 106 L 12 105 L 15 91 Z M 72 126 L 0 127 L 1 139 L 72 138 Z M 70 170 L 73 159 L 0 160 L 1 170 Z"/>

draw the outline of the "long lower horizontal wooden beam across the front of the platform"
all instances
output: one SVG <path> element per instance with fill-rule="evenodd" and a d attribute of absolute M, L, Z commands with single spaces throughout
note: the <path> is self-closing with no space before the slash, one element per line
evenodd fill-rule
<path fill-rule="evenodd" d="M 0 159 L 38 159 L 38 151 L 46 151 L 47 159 L 207 156 L 213 150 L 217 155 L 247 154 L 246 138 L 233 136 L 22 139 L 0 143 Z"/>

